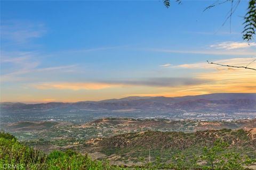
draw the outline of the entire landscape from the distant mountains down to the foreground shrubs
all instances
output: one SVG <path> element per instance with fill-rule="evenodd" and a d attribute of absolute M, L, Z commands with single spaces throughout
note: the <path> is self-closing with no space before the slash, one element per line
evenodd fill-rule
<path fill-rule="evenodd" d="M 0 108 L 1 131 L 45 154 L 71 149 L 111 166 L 164 167 L 181 156 L 201 160 L 205 148 L 222 141 L 223 156 L 256 160 L 255 94 L 1 103 Z"/>

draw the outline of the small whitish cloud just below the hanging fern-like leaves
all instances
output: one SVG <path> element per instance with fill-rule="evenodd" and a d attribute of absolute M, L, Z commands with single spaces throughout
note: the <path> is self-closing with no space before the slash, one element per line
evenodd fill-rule
<path fill-rule="evenodd" d="M 246 42 L 233 42 L 233 41 L 226 41 L 222 43 L 217 43 L 210 45 L 212 48 L 216 49 L 238 49 L 238 48 L 250 48 L 250 47 L 255 47 L 256 43 L 246 43 Z"/>

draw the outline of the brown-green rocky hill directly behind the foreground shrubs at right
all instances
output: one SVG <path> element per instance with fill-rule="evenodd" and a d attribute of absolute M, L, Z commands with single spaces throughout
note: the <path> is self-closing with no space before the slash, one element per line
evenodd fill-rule
<path fill-rule="evenodd" d="M 104 157 L 115 162 L 134 163 L 140 158 L 148 160 L 149 148 L 151 160 L 160 157 L 168 162 L 177 153 L 187 157 L 202 154 L 204 147 L 213 145 L 216 140 L 229 144 L 229 151 L 256 158 L 256 134 L 250 131 L 208 130 L 194 133 L 147 131 L 126 133 L 91 142 L 86 151 L 101 152 Z M 82 149 L 81 147 L 80 149 Z"/>

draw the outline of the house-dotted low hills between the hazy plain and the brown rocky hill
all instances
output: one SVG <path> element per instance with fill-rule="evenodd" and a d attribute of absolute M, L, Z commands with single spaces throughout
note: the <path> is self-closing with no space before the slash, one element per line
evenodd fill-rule
<path fill-rule="evenodd" d="M 31 143 L 49 141 L 53 145 L 66 146 L 83 143 L 92 138 L 111 137 L 118 134 L 161 131 L 196 132 L 221 129 L 256 128 L 256 119 L 237 121 L 196 121 L 166 119 L 101 118 L 88 123 L 73 124 L 59 121 L 25 121 L 2 124 L 1 128 L 14 134 L 19 140 Z M 34 143 L 35 144 L 35 143 Z M 45 147 L 47 149 L 47 147 Z"/>

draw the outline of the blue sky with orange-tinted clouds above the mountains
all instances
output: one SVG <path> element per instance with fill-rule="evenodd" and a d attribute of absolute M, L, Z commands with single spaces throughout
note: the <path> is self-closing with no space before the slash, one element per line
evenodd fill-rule
<path fill-rule="evenodd" d="M 231 3 L 214 2 L 1 1 L 1 102 L 256 92 L 256 71 L 206 62 L 256 58 L 248 1 L 226 23 Z"/>

